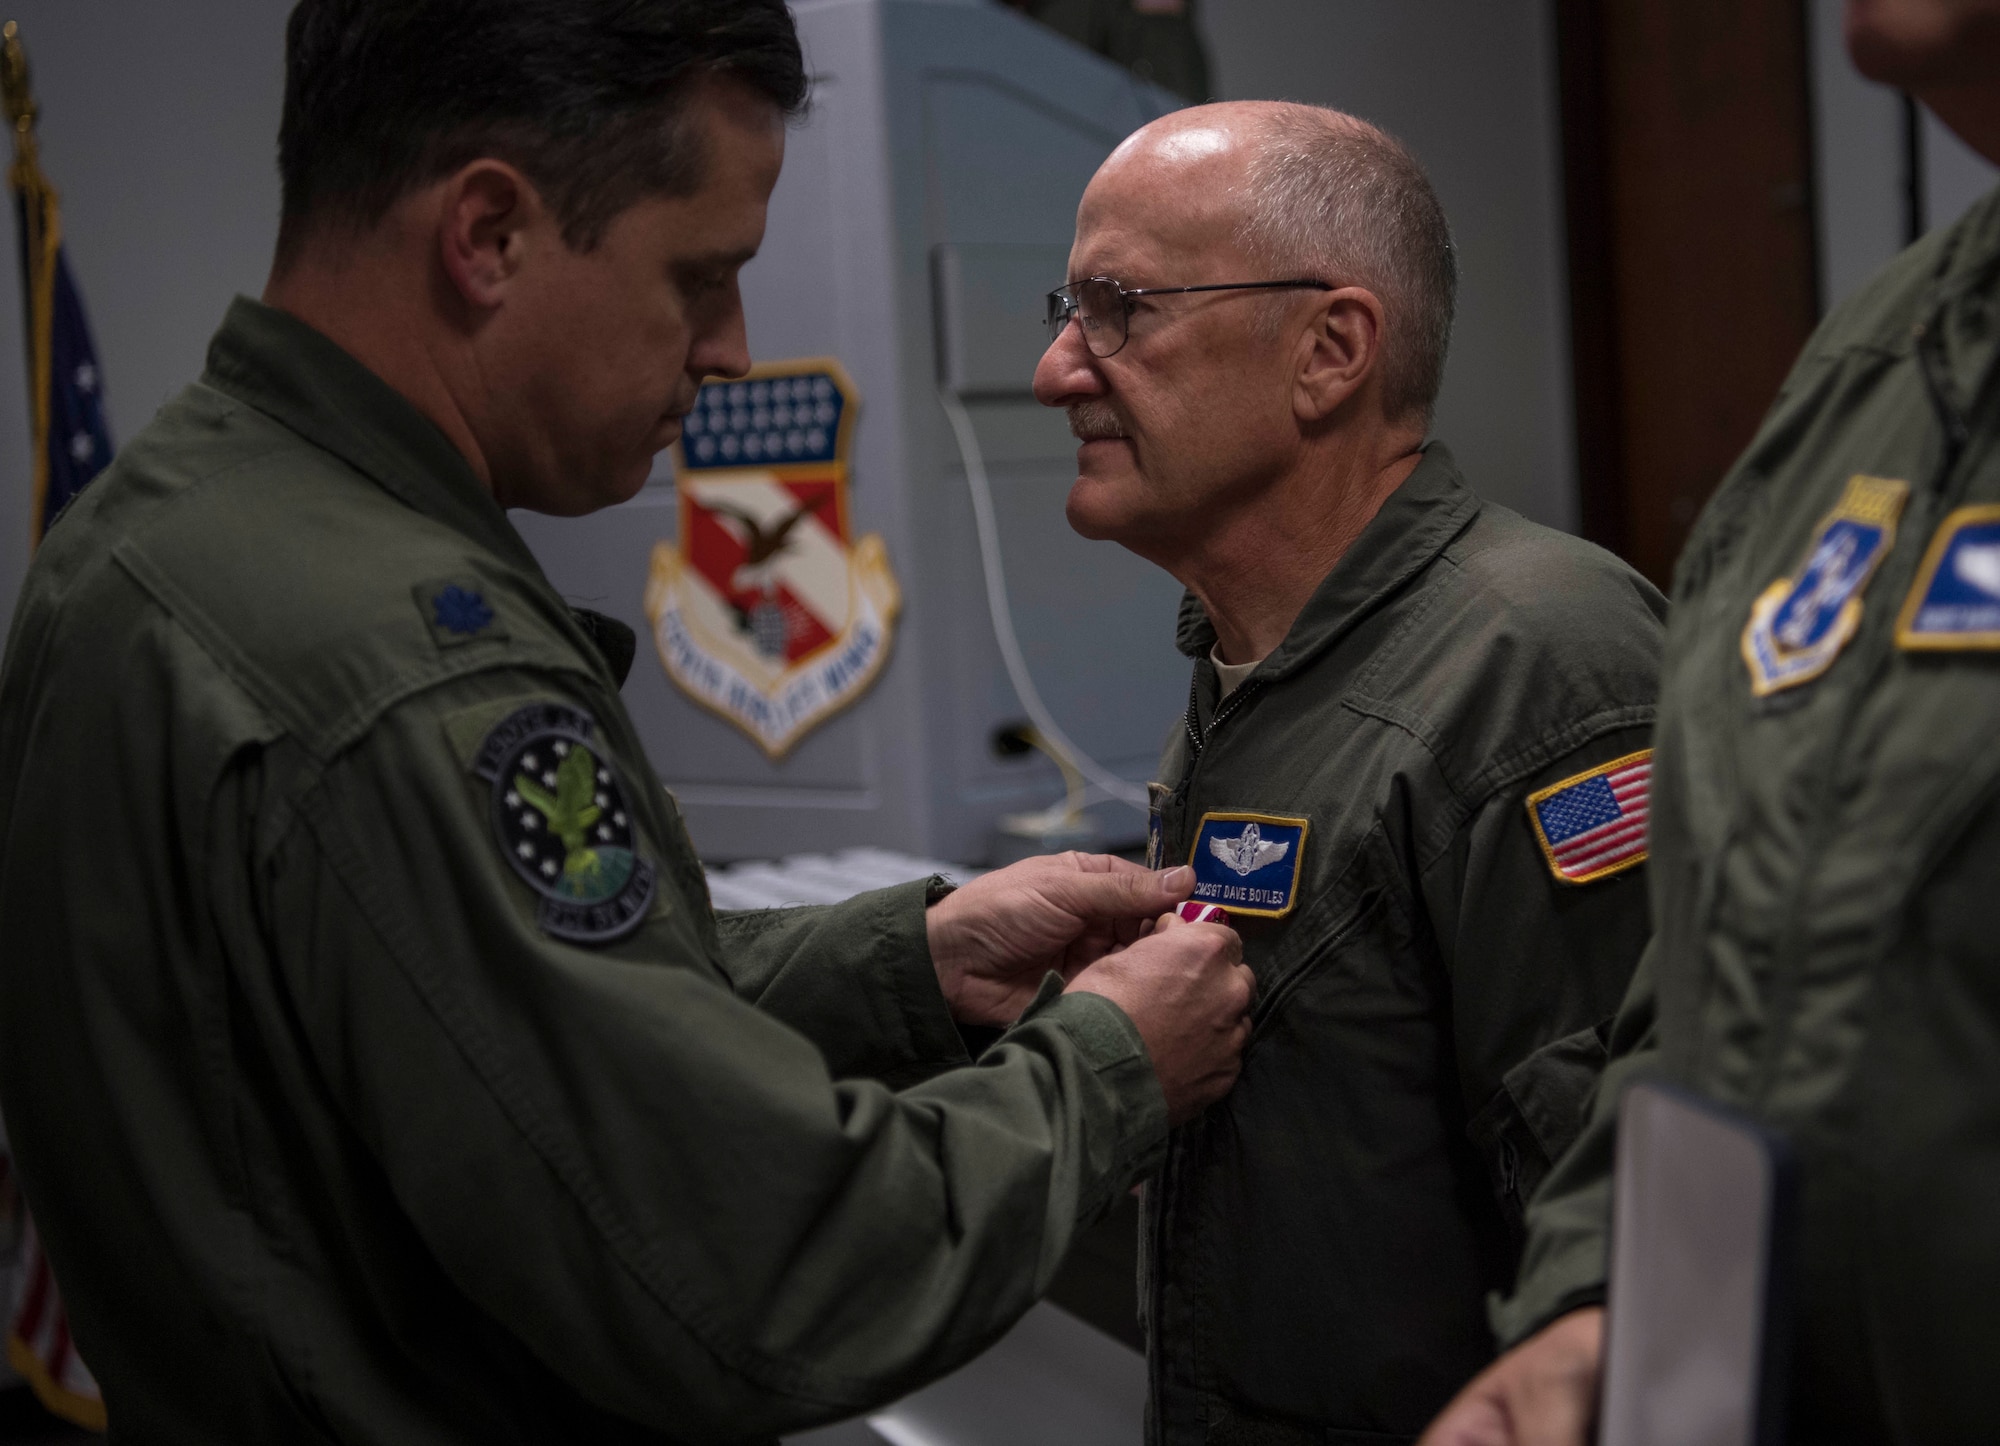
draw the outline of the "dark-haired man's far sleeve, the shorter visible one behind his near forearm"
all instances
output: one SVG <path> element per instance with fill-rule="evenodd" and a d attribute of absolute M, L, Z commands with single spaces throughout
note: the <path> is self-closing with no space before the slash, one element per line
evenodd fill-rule
<path fill-rule="evenodd" d="M 916 1084 L 970 1064 L 930 958 L 926 906 L 942 880 L 842 904 L 718 912 L 722 972 L 738 998 L 804 1034 L 834 1078 Z"/>

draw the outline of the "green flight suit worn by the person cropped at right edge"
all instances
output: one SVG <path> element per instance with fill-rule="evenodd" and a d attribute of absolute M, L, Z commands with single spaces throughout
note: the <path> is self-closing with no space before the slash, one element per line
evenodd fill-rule
<path fill-rule="evenodd" d="M 2000 552 L 1942 546 L 1964 526 L 1960 542 L 1992 546 L 1996 356 L 2000 192 L 1826 318 L 1688 538 L 1660 706 L 1656 936 L 1590 1130 L 1534 1202 L 1518 1292 L 1496 1312 L 1514 1342 L 1602 1298 L 1616 1086 L 1688 1084 L 1800 1156 L 1800 1442 L 1996 1430 Z M 1802 568 L 1828 576 L 1820 544 L 1856 476 L 1906 496 L 1862 586 L 1822 600 L 1830 616 L 1854 604 L 1852 636 L 1816 676 L 1760 694 L 1752 612 Z M 1926 626 L 1932 586 L 1984 602 Z"/>

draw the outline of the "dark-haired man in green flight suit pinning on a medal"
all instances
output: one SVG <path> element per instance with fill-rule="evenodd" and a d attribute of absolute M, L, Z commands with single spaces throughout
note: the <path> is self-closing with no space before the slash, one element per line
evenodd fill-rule
<path fill-rule="evenodd" d="M 1076 856 L 716 916 L 630 634 L 508 524 L 632 496 L 746 370 L 782 0 L 304 0 L 286 50 L 266 302 L 50 530 L 0 676 L 0 1096 L 112 1430 L 880 1404 L 1228 1088 L 1234 934 Z M 1012 1028 L 970 1068 L 954 1016 Z"/>

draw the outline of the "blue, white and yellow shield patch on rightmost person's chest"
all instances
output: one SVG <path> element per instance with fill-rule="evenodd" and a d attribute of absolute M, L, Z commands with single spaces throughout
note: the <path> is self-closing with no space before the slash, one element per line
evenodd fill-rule
<path fill-rule="evenodd" d="M 1862 626 L 1862 590 L 1896 542 L 1896 518 L 1908 496 L 1906 482 L 1848 478 L 1840 504 L 1812 536 L 1804 566 L 1750 604 L 1742 654 L 1758 698 L 1834 666 Z"/>

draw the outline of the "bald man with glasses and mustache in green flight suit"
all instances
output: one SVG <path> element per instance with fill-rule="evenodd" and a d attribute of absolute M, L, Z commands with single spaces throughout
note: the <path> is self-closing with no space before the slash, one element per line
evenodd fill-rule
<path fill-rule="evenodd" d="M 1112 154 L 1050 298 L 1070 522 L 1188 586 L 1154 862 L 1258 974 L 1240 1086 L 1146 1186 L 1164 1446 L 1422 1430 L 1646 938 L 1664 600 L 1426 446 L 1454 278 L 1402 146 L 1226 104 Z"/>

